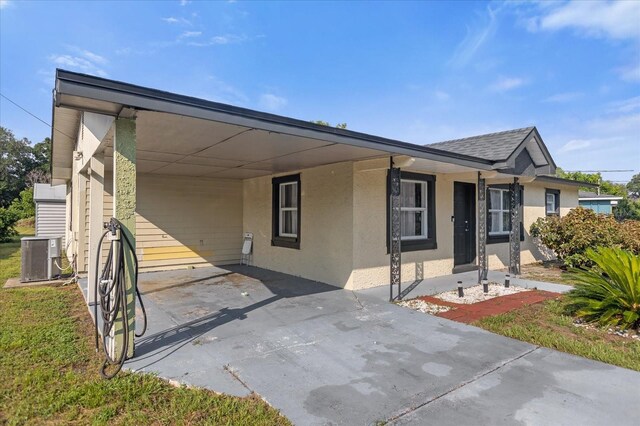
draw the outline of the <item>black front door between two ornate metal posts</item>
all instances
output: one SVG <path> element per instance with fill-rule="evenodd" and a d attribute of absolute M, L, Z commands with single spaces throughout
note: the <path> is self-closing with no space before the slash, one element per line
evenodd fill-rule
<path fill-rule="evenodd" d="M 476 186 L 453 183 L 453 263 L 466 265 L 476 257 Z"/>

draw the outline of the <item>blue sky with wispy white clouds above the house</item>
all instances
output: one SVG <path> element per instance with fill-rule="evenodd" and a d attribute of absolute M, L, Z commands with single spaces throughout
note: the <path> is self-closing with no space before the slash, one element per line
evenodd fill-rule
<path fill-rule="evenodd" d="M 0 0 L 0 63 L 46 121 L 60 67 L 419 144 L 535 125 L 567 170 L 640 171 L 638 1 Z"/>

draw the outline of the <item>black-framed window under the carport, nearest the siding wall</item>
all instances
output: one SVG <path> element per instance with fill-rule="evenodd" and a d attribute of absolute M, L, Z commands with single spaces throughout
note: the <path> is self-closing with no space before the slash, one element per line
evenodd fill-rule
<path fill-rule="evenodd" d="M 300 248 L 300 175 L 272 180 L 271 245 Z"/>

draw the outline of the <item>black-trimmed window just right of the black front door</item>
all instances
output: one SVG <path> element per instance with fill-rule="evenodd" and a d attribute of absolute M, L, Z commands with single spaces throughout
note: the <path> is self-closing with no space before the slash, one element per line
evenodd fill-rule
<path fill-rule="evenodd" d="M 524 241 L 524 189 L 520 186 L 520 241 Z M 506 243 L 511 232 L 511 190 L 509 185 L 492 185 L 487 191 L 487 244 Z"/>

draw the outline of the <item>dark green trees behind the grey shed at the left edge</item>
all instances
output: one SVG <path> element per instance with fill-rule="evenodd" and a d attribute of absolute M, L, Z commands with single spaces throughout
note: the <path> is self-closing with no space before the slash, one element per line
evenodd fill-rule
<path fill-rule="evenodd" d="M 51 141 L 31 145 L 0 127 L 0 207 L 7 207 L 20 192 L 33 183 L 49 182 Z"/>

